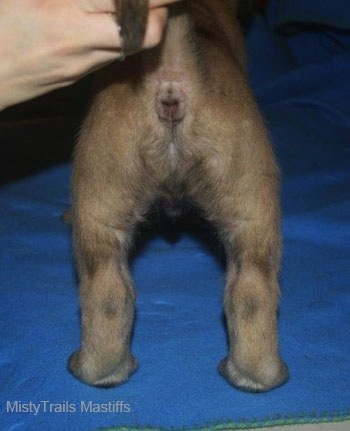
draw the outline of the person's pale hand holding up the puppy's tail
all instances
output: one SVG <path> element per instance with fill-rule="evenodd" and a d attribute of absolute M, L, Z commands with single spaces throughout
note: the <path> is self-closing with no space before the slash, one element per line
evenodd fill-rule
<path fill-rule="evenodd" d="M 157 45 L 166 6 L 150 0 L 143 48 Z M 0 0 L 0 110 L 74 83 L 121 56 L 118 0 Z"/>

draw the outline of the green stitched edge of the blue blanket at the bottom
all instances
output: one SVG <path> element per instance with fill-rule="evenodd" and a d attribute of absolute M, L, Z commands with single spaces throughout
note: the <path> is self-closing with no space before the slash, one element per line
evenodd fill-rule
<path fill-rule="evenodd" d="M 217 424 L 206 424 L 203 426 L 193 426 L 190 428 L 162 428 L 154 426 L 111 426 L 108 428 L 97 428 L 95 431 L 234 431 L 234 430 L 249 430 L 256 428 L 267 428 L 284 425 L 307 425 L 318 423 L 345 422 L 350 420 L 350 410 L 345 413 L 325 413 L 322 416 L 317 413 L 302 414 L 297 417 L 275 417 L 273 419 L 256 419 L 241 422 L 223 422 Z"/>

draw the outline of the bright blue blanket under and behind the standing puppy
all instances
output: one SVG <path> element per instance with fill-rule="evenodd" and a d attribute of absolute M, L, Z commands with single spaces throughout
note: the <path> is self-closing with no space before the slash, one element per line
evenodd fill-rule
<path fill-rule="evenodd" d="M 343 23 L 350 5 L 305 3 L 272 1 L 248 35 L 251 82 L 283 173 L 279 326 L 290 381 L 254 395 L 219 376 L 227 351 L 224 268 L 193 226 L 173 227 L 172 241 L 148 232 L 133 259 L 138 372 L 111 390 L 75 380 L 66 360 L 79 345 L 76 278 L 60 221 L 70 167 L 57 166 L 0 190 L 1 429 L 222 429 L 349 418 L 350 39 Z M 314 22 L 315 7 L 327 28 Z"/>

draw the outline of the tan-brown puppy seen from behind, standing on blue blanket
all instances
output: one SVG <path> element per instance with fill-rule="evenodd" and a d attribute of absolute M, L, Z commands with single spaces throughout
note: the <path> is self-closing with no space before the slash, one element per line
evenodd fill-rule
<path fill-rule="evenodd" d="M 82 346 L 69 369 L 88 384 L 135 371 L 129 244 L 154 201 L 181 198 L 203 210 L 227 253 L 220 372 L 248 391 L 288 377 L 276 330 L 279 173 L 247 83 L 237 3 L 174 4 L 161 46 L 99 73 L 72 186 Z"/>

